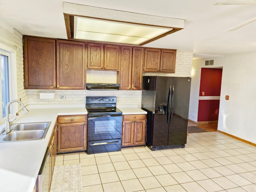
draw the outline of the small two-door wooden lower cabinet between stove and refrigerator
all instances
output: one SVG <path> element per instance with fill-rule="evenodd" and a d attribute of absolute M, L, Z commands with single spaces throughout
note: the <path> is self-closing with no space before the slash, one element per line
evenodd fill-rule
<path fill-rule="evenodd" d="M 122 146 L 145 145 L 146 115 L 123 115 Z"/>

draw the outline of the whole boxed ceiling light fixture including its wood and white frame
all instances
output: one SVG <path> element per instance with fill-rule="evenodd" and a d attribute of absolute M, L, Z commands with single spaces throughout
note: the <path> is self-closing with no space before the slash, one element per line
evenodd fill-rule
<path fill-rule="evenodd" d="M 182 30 L 184 19 L 63 2 L 68 39 L 142 46 Z"/>

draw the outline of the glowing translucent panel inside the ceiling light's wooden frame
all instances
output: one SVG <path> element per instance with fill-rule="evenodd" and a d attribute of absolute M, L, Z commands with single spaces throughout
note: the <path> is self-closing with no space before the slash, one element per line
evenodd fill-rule
<path fill-rule="evenodd" d="M 139 45 L 172 28 L 74 16 L 74 39 Z"/>

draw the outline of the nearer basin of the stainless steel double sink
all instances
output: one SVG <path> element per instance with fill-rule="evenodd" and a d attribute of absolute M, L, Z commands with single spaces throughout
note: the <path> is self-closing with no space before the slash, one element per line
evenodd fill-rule
<path fill-rule="evenodd" d="M 44 136 L 44 130 L 32 130 L 32 131 L 19 131 L 19 132 L 10 132 L 4 141 L 20 141 L 20 140 L 33 140 L 40 139 Z"/>

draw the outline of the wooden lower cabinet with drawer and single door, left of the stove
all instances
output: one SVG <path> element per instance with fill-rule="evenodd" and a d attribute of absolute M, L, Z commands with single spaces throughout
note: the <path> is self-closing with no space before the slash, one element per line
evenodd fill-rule
<path fill-rule="evenodd" d="M 58 116 L 57 153 L 86 150 L 87 115 Z"/>

